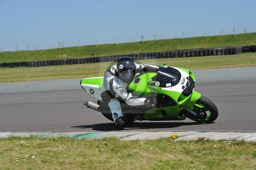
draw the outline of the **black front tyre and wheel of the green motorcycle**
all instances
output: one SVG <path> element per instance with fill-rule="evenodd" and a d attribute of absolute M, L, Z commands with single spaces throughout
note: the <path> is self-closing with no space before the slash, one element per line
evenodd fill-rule
<path fill-rule="evenodd" d="M 216 105 L 207 97 L 201 96 L 195 103 L 195 112 L 199 115 L 198 117 L 193 117 L 191 114 L 186 114 L 186 116 L 200 123 L 210 123 L 217 119 L 219 111 Z"/>

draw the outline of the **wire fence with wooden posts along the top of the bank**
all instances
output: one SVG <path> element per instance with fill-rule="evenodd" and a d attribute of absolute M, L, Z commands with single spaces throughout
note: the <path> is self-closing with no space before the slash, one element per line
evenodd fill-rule
<path fill-rule="evenodd" d="M 201 31 L 190 31 L 185 30 L 176 33 L 155 33 L 155 34 L 145 34 L 145 35 L 131 35 L 127 37 L 113 37 L 113 38 L 96 38 L 94 41 L 59 41 L 55 43 L 32 43 L 24 46 L 5 46 L 0 47 L 0 52 L 4 51 L 20 51 L 20 50 L 45 50 L 45 49 L 61 49 L 65 47 L 79 47 L 85 45 L 101 45 L 101 44 L 118 44 L 118 43 L 132 43 L 132 42 L 144 42 L 150 40 L 164 40 L 164 39 L 174 39 L 174 38 L 191 38 L 191 37 L 207 37 L 216 35 L 237 35 L 245 33 L 255 33 L 256 26 L 246 26 L 246 27 L 233 27 L 233 28 L 220 28 L 216 32 L 211 32 L 208 30 Z M 7 50 L 6 50 L 7 49 Z M 12 50 L 13 49 L 13 50 Z"/>

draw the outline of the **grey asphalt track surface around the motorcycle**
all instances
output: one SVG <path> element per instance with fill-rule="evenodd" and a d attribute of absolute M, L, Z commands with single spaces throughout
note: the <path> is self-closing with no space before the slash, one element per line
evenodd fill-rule
<path fill-rule="evenodd" d="M 256 132 L 256 67 L 200 70 L 195 90 L 219 109 L 211 124 L 142 121 L 124 131 Z M 0 132 L 115 131 L 114 124 L 83 105 L 95 101 L 81 79 L 0 83 Z"/>

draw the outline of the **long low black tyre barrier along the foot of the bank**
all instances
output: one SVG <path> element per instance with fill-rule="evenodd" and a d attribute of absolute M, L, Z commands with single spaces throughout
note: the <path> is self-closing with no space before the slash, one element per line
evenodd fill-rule
<path fill-rule="evenodd" d="M 173 50 L 173 51 L 163 51 L 163 52 L 134 53 L 134 54 L 89 57 L 89 58 L 69 58 L 69 59 L 59 59 L 59 60 L 0 63 L 0 67 L 20 67 L 20 66 L 40 67 L 40 66 L 113 62 L 113 61 L 117 61 L 122 56 L 129 56 L 137 60 L 143 60 L 143 59 L 157 59 L 157 58 L 233 55 L 233 54 L 240 54 L 242 52 L 256 52 L 256 45 L 249 45 L 249 46 L 242 46 L 242 47 L 225 47 L 225 48 L 210 48 L 210 49 L 192 49 L 192 50 Z"/>

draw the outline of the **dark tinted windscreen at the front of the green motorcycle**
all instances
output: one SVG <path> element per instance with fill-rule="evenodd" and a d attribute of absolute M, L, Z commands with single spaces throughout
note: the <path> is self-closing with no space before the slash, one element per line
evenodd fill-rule
<path fill-rule="evenodd" d="M 158 87 L 172 87 L 177 85 L 181 79 L 181 73 L 169 66 L 158 66 L 156 76 L 152 77 L 152 82 L 148 85 Z M 157 82 L 158 81 L 158 82 Z"/>

